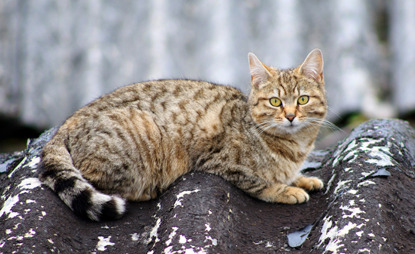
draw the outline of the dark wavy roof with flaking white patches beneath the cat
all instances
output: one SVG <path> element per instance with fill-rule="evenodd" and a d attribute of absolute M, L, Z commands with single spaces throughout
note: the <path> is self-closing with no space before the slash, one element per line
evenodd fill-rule
<path fill-rule="evenodd" d="M 306 204 L 265 203 L 193 172 L 101 223 L 79 219 L 38 181 L 53 131 L 0 155 L 2 253 L 415 253 L 415 131 L 403 121 L 366 122 L 313 152 L 304 173 L 326 188 Z M 290 247 L 287 236 L 308 225 L 304 243 Z"/>

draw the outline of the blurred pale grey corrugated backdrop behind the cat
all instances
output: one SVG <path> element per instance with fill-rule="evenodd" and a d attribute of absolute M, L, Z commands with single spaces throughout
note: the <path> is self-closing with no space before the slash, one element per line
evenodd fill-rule
<path fill-rule="evenodd" d="M 412 120 L 415 1 L 0 0 L 0 152 L 117 87 L 190 78 L 248 92 L 248 52 L 281 68 L 325 60 L 319 148 L 370 118 Z"/>

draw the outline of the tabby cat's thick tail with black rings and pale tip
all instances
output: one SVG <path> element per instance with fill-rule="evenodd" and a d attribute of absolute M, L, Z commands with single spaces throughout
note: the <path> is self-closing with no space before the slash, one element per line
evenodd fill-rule
<path fill-rule="evenodd" d="M 54 137 L 44 146 L 41 161 L 42 183 L 54 190 L 78 216 L 101 221 L 118 219 L 125 213 L 125 199 L 95 189 L 73 165 L 61 138 Z"/>

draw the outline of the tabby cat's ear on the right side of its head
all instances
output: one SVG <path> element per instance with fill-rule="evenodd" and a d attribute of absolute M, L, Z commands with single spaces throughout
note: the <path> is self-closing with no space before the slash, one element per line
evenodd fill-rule
<path fill-rule="evenodd" d="M 304 62 L 297 68 L 297 71 L 317 82 L 322 82 L 324 80 L 323 67 L 323 53 L 321 53 L 320 49 L 314 49 L 310 52 L 310 54 L 308 54 Z"/>

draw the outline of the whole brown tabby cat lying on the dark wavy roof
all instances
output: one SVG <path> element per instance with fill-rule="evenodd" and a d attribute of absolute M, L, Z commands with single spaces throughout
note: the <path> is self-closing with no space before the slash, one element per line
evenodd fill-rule
<path fill-rule="evenodd" d="M 323 187 L 299 174 L 327 111 L 321 51 L 294 69 L 268 67 L 252 53 L 249 65 L 248 98 L 229 86 L 159 80 L 93 101 L 43 148 L 42 182 L 96 221 L 119 218 L 125 200 L 155 198 L 192 169 L 265 201 L 307 201 L 304 189 Z"/>

